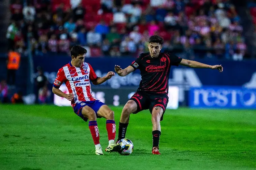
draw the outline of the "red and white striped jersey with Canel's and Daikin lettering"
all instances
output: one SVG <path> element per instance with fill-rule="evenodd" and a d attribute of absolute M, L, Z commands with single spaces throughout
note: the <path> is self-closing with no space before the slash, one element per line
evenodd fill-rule
<path fill-rule="evenodd" d="M 69 93 L 73 93 L 74 100 L 72 106 L 79 101 L 94 101 L 96 100 L 91 92 L 90 81 L 97 79 L 93 68 L 88 63 L 83 63 L 79 67 L 72 66 L 71 62 L 59 69 L 57 77 L 53 83 L 55 88 L 59 88 L 62 83 L 65 83 Z"/>

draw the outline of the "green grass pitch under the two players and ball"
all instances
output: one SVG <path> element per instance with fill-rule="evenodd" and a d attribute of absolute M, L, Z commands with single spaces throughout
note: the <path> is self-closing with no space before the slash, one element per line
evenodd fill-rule
<path fill-rule="evenodd" d="M 111 108 L 118 127 L 122 107 Z M 134 151 L 129 156 L 95 155 L 88 122 L 71 107 L 0 105 L 0 116 L 0 170 L 256 169 L 255 110 L 167 110 L 161 155 L 151 154 L 149 111 L 131 115 L 126 137 Z M 105 149 L 105 119 L 97 121 Z"/>

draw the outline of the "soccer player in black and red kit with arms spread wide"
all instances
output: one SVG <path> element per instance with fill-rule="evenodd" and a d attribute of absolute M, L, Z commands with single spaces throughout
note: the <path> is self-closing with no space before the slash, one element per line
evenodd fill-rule
<path fill-rule="evenodd" d="M 163 39 L 157 35 L 150 37 L 148 49 L 150 52 L 142 53 L 125 69 L 115 65 L 115 71 L 120 76 L 126 76 L 139 69 L 141 82 L 137 92 L 125 104 L 119 122 L 118 140 L 125 138 L 130 114 L 136 114 L 149 109 L 152 114 L 153 148 L 152 153 L 159 155 L 159 138 L 161 135 L 160 121 L 168 103 L 168 81 L 171 66 L 188 66 L 193 68 L 211 68 L 223 71 L 221 65 L 207 65 L 196 61 L 185 60 L 169 53 L 160 53 Z"/>

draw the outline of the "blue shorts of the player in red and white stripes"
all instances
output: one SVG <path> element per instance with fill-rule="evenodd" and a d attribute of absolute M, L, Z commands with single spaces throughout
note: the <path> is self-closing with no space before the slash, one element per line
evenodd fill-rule
<path fill-rule="evenodd" d="M 88 118 L 86 118 L 82 115 L 82 108 L 84 106 L 89 106 L 90 108 L 92 108 L 94 110 L 94 112 L 96 113 L 97 118 L 101 118 L 100 116 L 97 115 L 97 112 L 99 111 L 99 109 L 102 105 L 105 105 L 105 104 L 102 103 L 99 100 L 82 101 L 82 102 L 77 102 L 75 104 L 75 106 L 73 107 L 73 110 L 74 110 L 75 114 L 77 114 L 77 116 L 81 117 L 84 121 L 87 122 Z"/>

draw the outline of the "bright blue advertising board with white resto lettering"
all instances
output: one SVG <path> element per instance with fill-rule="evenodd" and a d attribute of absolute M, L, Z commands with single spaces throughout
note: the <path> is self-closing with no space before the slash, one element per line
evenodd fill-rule
<path fill-rule="evenodd" d="M 256 109 L 256 89 L 231 86 L 190 88 L 192 108 L 253 108 Z"/>

